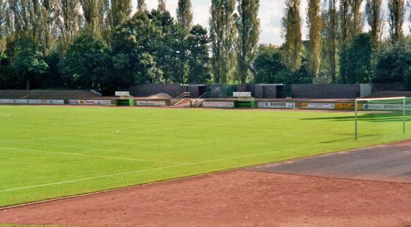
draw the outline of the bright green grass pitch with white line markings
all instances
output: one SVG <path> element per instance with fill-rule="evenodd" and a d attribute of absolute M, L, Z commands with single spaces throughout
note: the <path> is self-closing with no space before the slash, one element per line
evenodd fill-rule
<path fill-rule="evenodd" d="M 254 110 L 0 106 L 0 206 L 408 138 L 401 122 Z"/>

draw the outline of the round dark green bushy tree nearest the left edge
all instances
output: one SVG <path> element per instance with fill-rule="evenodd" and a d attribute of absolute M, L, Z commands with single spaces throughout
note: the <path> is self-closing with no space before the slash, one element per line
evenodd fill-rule
<path fill-rule="evenodd" d="M 43 59 L 42 48 L 31 38 L 18 38 L 8 43 L 7 49 L 12 71 L 19 80 L 25 82 L 25 88 L 29 90 L 32 82 L 39 79 L 49 67 Z"/>

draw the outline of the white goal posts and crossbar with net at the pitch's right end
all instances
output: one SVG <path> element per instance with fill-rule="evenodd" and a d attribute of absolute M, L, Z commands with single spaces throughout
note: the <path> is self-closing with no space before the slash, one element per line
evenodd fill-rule
<path fill-rule="evenodd" d="M 407 97 L 387 97 L 355 100 L 355 139 L 358 140 L 358 123 L 360 121 L 358 112 L 364 110 L 376 118 L 384 118 L 388 115 L 391 121 L 402 121 L 402 133 L 406 133 L 407 110 L 411 105 L 407 104 Z M 393 120 L 394 119 L 394 120 Z"/>

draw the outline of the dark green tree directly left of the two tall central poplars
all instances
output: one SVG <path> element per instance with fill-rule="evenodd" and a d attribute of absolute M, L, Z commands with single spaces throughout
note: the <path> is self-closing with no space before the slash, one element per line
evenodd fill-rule
<path fill-rule="evenodd" d="M 201 25 L 192 27 L 190 36 L 187 39 L 188 44 L 188 83 L 204 83 L 211 79 L 208 64 L 209 38 L 207 30 Z"/>

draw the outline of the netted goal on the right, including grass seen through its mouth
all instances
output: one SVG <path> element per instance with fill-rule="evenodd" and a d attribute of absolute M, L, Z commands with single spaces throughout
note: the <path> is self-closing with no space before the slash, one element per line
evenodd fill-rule
<path fill-rule="evenodd" d="M 356 99 L 356 140 L 366 136 L 377 136 L 387 142 L 409 139 L 411 138 L 411 125 L 408 127 L 410 120 L 410 98 Z"/>

